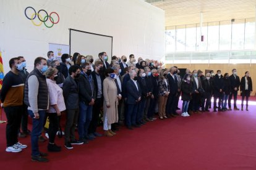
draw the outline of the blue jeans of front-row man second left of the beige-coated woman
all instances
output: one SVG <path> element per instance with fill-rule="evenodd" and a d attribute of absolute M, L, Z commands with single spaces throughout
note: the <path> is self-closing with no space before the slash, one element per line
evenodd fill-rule
<path fill-rule="evenodd" d="M 79 102 L 79 138 L 84 139 L 88 136 L 88 128 L 92 121 L 92 106 Z"/>

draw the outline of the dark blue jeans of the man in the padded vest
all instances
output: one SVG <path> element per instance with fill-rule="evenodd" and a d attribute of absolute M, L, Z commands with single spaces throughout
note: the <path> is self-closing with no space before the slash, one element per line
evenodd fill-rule
<path fill-rule="evenodd" d="M 32 110 L 28 110 L 28 114 L 33 118 L 32 120 L 32 132 L 31 132 L 31 148 L 32 148 L 32 156 L 39 156 L 39 147 L 38 147 L 38 137 L 41 135 L 41 131 L 43 129 L 43 121 L 45 119 L 45 110 L 39 110 L 39 119 L 34 118 L 34 113 Z"/>

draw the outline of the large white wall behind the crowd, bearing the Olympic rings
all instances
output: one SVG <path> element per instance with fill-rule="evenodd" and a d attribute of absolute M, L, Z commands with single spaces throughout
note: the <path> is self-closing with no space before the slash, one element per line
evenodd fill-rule
<path fill-rule="evenodd" d="M 28 6 L 58 12 L 59 23 L 53 28 L 34 26 L 24 14 Z M 49 42 L 69 44 L 68 28 L 113 36 L 113 55 L 164 57 L 164 11 L 142 0 L 1 0 L 0 49 L 5 73 L 12 57 L 23 55 L 32 70 L 35 57 L 46 57 Z"/>

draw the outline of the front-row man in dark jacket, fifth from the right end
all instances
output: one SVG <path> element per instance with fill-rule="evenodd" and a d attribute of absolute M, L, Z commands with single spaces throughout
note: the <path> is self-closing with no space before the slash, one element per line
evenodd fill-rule
<path fill-rule="evenodd" d="M 205 93 L 203 95 L 203 105 L 202 105 L 202 111 L 210 111 L 208 108 L 210 108 L 211 105 L 211 96 L 213 95 L 213 82 L 211 81 L 211 74 L 207 73 L 206 79 L 203 79 L 202 81 L 203 90 L 205 90 Z M 206 99 L 206 102 L 205 102 Z"/>

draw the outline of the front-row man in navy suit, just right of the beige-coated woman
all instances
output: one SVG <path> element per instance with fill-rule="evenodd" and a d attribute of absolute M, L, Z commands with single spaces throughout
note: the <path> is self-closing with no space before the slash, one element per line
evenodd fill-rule
<path fill-rule="evenodd" d="M 130 80 L 127 82 L 127 114 L 126 125 L 128 129 L 132 130 L 132 126 L 140 127 L 136 124 L 136 116 L 138 112 L 138 105 L 141 100 L 142 91 L 140 84 L 137 82 L 137 73 L 132 70 L 129 73 Z"/>

